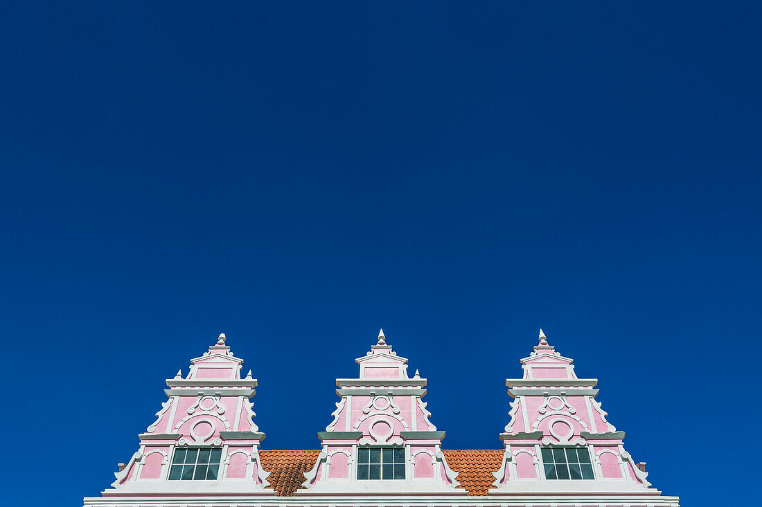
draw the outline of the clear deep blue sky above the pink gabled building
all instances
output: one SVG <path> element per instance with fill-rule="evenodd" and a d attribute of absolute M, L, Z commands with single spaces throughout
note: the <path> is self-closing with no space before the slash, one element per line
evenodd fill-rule
<path fill-rule="evenodd" d="M 758 501 L 759 2 L 158 3 L 0 6 L 4 503 L 97 495 L 220 332 L 316 448 L 379 327 L 449 448 L 543 327 L 656 487 Z"/>

